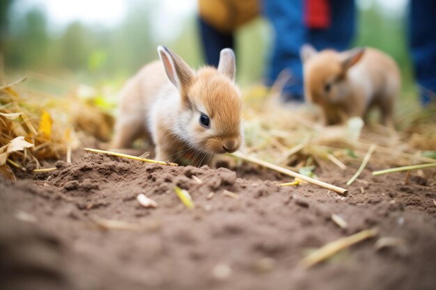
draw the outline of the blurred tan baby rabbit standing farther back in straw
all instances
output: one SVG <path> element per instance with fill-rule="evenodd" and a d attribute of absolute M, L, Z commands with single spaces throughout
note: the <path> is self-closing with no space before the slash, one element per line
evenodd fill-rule
<path fill-rule="evenodd" d="M 300 55 L 304 95 L 322 108 L 325 125 L 355 116 L 366 119 L 369 109 L 378 107 L 382 124 L 393 126 L 400 72 L 390 56 L 369 47 L 317 52 L 311 45 L 304 45 Z"/>

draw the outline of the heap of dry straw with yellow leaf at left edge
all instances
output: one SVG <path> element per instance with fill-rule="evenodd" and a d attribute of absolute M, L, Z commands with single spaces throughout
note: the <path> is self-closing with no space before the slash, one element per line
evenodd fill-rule
<path fill-rule="evenodd" d="M 78 144 L 75 131 L 69 124 L 68 110 L 65 110 L 70 107 L 70 99 L 28 90 L 20 85 L 25 80 L 26 77 L 23 77 L 0 86 L 0 147 L 17 138 L 22 138 L 22 144 L 24 141 L 31 144 L 30 147 L 22 146 L 20 150 L 6 152 L 7 164 L 0 164 L 1 172 L 9 172 L 9 166 L 26 170 L 28 165 L 36 167 L 36 172 L 43 172 L 40 161 L 68 159 L 67 130 L 70 130 L 70 150 Z M 80 102 L 75 101 L 77 108 Z M 86 113 L 86 110 L 79 111 Z M 14 179 L 13 173 L 9 178 Z"/>

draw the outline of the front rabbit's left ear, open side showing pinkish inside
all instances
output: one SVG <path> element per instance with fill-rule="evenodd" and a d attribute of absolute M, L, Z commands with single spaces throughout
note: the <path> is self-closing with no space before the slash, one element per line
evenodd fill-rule
<path fill-rule="evenodd" d="M 194 72 L 177 54 L 166 47 L 157 47 L 160 61 L 164 65 L 166 76 L 173 83 L 182 95 L 185 95 L 187 88 L 191 86 L 194 79 Z"/>

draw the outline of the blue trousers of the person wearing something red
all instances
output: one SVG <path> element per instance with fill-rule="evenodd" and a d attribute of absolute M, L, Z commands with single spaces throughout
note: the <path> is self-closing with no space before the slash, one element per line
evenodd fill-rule
<path fill-rule="evenodd" d="M 347 49 L 355 32 L 355 3 L 330 0 L 331 24 L 328 29 L 309 29 L 305 26 L 304 0 L 265 0 L 262 3 L 263 14 L 275 31 L 265 84 L 272 86 L 279 73 L 286 69 L 291 79 L 283 88 L 282 98 L 284 101 L 302 101 L 300 47 L 310 43 L 318 50 Z"/>

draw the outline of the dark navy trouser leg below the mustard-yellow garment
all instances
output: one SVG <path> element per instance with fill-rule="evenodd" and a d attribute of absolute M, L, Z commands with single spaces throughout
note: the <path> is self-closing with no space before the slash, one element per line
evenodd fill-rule
<path fill-rule="evenodd" d="M 234 40 L 232 33 L 222 33 L 198 17 L 200 26 L 201 42 L 205 54 L 205 62 L 208 65 L 218 67 L 219 52 L 224 48 L 234 50 Z"/>

